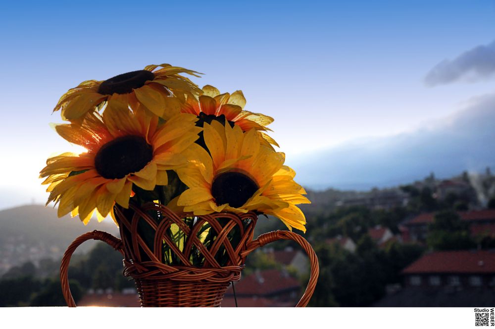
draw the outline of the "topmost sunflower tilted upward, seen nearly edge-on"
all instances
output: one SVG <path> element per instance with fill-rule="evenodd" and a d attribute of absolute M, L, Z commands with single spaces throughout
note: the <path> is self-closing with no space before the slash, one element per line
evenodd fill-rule
<path fill-rule="evenodd" d="M 156 70 L 156 68 L 161 67 Z M 142 104 L 165 119 L 180 112 L 186 98 L 193 98 L 200 89 L 180 73 L 197 76 L 198 72 L 170 64 L 148 65 L 143 70 L 127 72 L 113 78 L 84 81 L 65 93 L 53 111 L 61 109 L 64 120 L 74 121 L 89 111 L 100 110 L 111 99 L 118 99 L 136 108 Z"/>

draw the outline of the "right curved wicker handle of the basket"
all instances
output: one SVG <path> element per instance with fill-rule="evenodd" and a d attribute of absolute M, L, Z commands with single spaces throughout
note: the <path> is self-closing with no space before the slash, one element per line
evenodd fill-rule
<path fill-rule="evenodd" d="M 311 296 L 313 295 L 314 288 L 316 287 L 316 281 L 318 281 L 318 274 L 320 273 L 320 269 L 318 267 L 318 258 L 316 257 L 316 253 L 313 248 L 302 236 L 297 233 L 290 231 L 272 231 L 265 234 L 261 234 L 258 236 L 256 240 L 253 240 L 247 244 L 247 249 L 244 251 L 241 256 L 246 257 L 249 253 L 254 251 L 256 248 L 263 247 L 265 244 L 268 244 L 277 240 L 294 240 L 296 241 L 302 249 L 306 251 L 309 256 L 309 263 L 311 266 L 311 273 L 309 275 L 309 281 L 302 295 L 301 299 L 297 303 L 296 307 L 306 307 Z"/>

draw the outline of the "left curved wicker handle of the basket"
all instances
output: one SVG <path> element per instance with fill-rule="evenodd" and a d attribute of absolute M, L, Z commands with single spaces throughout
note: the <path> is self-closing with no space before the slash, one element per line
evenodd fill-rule
<path fill-rule="evenodd" d="M 74 253 L 74 251 L 76 250 L 76 248 L 79 247 L 79 245 L 81 245 L 81 243 L 90 239 L 106 242 L 113 249 L 117 250 L 122 255 L 124 255 L 122 240 L 116 238 L 110 233 L 94 230 L 92 232 L 84 233 L 83 235 L 76 238 L 63 254 L 62 264 L 60 264 L 60 283 L 62 284 L 63 298 L 65 298 L 65 303 L 67 303 L 68 307 L 76 307 L 74 298 L 72 298 L 72 294 L 70 293 L 69 278 L 67 276 L 70 258 Z"/>

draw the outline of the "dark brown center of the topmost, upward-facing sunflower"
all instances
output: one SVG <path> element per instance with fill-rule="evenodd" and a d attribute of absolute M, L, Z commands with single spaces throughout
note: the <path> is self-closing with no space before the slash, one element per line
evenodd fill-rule
<path fill-rule="evenodd" d="M 98 93 L 101 95 L 128 94 L 133 89 L 143 87 L 146 81 L 153 79 L 154 73 L 147 70 L 119 74 L 103 81 L 99 85 Z"/>

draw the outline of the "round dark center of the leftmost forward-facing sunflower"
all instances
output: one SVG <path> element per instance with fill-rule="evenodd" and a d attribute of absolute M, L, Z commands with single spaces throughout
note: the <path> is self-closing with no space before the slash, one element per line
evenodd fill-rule
<path fill-rule="evenodd" d="M 153 148 L 146 139 L 141 136 L 124 136 L 99 149 L 95 157 L 95 168 L 104 178 L 123 178 L 143 169 L 151 159 Z"/>

